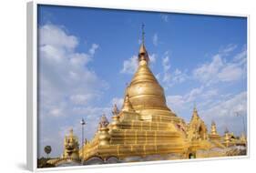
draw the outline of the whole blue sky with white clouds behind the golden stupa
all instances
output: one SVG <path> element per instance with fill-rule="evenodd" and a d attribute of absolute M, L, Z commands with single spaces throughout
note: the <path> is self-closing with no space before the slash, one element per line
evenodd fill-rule
<path fill-rule="evenodd" d="M 99 117 L 121 107 L 145 24 L 150 68 L 168 106 L 187 122 L 194 104 L 219 133 L 240 135 L 247 116 L 247 19 L 41 5 L 38 8 L 38 154 L 60 156 L 70 127 L 93 137 Z"/>

